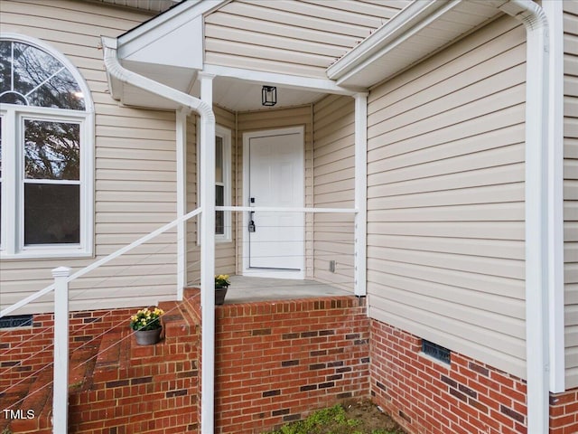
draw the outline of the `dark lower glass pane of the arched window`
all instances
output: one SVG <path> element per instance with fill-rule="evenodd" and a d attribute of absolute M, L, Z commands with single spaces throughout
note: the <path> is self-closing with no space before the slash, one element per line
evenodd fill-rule
<path fill-rule="evenodd" d="M 24 245 L 80 242 L 80 186 L 24 184 Z"/>

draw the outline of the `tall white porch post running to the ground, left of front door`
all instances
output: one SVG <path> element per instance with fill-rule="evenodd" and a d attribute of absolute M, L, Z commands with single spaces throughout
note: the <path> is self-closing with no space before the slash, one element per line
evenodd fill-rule
<path fill-rule="evenodd" d="M 213 75 L 200 73 L 200 99 L 212 107 Z M 200 432 L 212 434 L 215 424 L 215 124 L 200 125 L 200 307 L 201 374 Z"/>

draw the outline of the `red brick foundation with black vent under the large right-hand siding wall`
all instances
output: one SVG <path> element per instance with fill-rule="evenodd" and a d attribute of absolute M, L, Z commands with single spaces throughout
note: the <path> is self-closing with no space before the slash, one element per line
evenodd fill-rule
<path fill-rule="evenodd" d="M 526 382 L 452 353 L 421 354 L 421 340 L 371 321 L 371 394 L 409 432 L 526 433 Z"/>

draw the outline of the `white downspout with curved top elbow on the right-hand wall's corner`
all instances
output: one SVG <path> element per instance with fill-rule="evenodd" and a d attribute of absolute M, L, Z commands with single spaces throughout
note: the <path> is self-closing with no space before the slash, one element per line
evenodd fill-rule
<path fill-rule="evenodd" d="M 501 3 L 501 2 L 494 2 Z M 527 31 L 526 61 L 526 363 L 527 432 L 545 434 L 549 419 L 548 320 L 548 24 L 531 0 L 499 9 Z"/>

